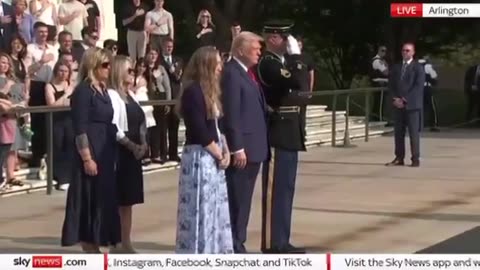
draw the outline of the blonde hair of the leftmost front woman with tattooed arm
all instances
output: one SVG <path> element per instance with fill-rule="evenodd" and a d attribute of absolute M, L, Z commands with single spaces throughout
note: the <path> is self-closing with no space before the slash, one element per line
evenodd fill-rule
<path fill-rule="evenodd" d="M 102 63 L 112 62 L 112 54 L 106 49 L 90 48 L 85 51 L 78 68 L 78 83 L 88 81 L 97 82 L 95 71 L 100 68 Z"/>

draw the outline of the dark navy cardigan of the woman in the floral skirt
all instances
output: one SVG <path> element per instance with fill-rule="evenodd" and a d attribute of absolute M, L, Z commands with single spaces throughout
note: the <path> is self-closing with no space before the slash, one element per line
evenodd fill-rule
<path fill-rule="evenodd" d="M 188 86 L 180 102 L 185 123 L 185 144 L 205 147 L 213 141 L 218 142 L 215 120 L 207 119 L 207 106 L 200 84 L 192 83 Z"/>

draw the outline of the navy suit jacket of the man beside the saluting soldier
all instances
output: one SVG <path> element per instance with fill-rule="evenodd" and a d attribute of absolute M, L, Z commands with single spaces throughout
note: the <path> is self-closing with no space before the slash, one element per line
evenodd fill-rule
<path fill-rule="evenodd" d="M 260 86 L 232 59 L 224 67 L 221 87 L 222 127 L 230 152 L 244 149 L 248 162 L 267 160 L 267 110 Z"/>

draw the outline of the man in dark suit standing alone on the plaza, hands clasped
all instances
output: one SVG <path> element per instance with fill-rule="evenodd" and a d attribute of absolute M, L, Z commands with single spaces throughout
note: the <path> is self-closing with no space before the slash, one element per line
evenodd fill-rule
<path fill-rule="evenodd" d="M 395 159 L 387 166 L 403 166 L 405 158 L 405 134 L 408 127 L 412 167 L 420 166 L 420 131 L 422 129 L 423 87 L 425 71 L 413 59 L 415 46 L 405 43 L 402 47 L 403 61 L 396 64 L 388 80 L 393 96 L 393 120 L 395 130 Z"/>

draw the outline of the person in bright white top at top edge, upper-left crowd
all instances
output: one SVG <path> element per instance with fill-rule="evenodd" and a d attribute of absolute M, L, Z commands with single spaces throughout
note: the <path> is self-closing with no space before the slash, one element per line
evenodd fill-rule
<path fill-rule="evenodd" d="M 48 41 L 51 43 L 57 36 L 57 7 L 53 0 L 30 1 L 30 13 L 37 22 L 48 25 Z"/>

